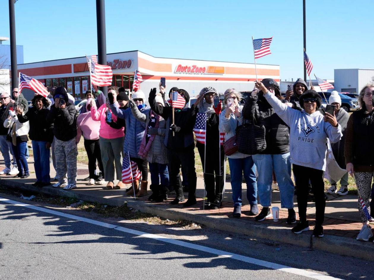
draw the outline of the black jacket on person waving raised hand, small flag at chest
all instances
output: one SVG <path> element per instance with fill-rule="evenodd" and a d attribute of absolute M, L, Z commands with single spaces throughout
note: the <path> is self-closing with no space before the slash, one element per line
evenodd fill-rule
<path fill-rule="evenodd" d="M 199 111 L 197 107 L 192 105 L 191 108 L 184 108 L 183 110 L 174 109 L 174 124 L 180 127 L 181 130 L 175 132 L 175 136 L 173 136 L 172 131 L 169 129 L 172 124 L 173 108 L 171 106 L 164 107 L 157 104 L 154 99 L 155 96 L 155 94 L 150 94 L 148 102 L 153 112 L 166 120 L 166 129 L 168 132 L 165 135 L 165 146 L 171 150 L 193 149 L 195 146 L 193 127 L 196 121 L 196 114 Z"/>

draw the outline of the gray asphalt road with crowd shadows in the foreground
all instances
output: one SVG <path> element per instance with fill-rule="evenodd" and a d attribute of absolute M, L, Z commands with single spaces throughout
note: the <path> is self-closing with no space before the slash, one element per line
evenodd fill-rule
<path fill-rule="evenodd" d="M 361 259 L 17 201 L 30 203 L 0 195 L 4 280 L 374 279 L 371 264 Z"/>

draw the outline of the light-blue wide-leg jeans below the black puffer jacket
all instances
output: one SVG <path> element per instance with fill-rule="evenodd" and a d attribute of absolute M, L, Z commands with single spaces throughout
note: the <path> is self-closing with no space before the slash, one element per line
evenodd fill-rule
<path fill-rule="evenodd" d="M 291 162 L 289 153 L 281 155 L 253 155 L 258 172 L 258 197 L 264 207 L 272 204 L 273 170 L 281 194 L 281 207 L 294 208 L 294 183 L 291 180 Z"/>

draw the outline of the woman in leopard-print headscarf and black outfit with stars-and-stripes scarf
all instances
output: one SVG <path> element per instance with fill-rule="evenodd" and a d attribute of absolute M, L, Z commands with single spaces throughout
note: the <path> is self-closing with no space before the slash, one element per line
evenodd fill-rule
<path fill-rule="evenodd" d="M 221 206 L 225 175 L 225 153 L 220 144 L 220 130 L 218 127 L 220 112 L 217 114 L 215 108 L 213 108 L 215 96 L 218 97 L 218 94 L 213 87 L 205 87 L 200 91 L 199 97 L 201 99 L 197 104 L 199 112 L 197 113 L 194 127 L 197 140 L 196 147 L 199 151 L 204 172 L 207 197 L 204 206 L 206 209 L 218 209 Z"/>

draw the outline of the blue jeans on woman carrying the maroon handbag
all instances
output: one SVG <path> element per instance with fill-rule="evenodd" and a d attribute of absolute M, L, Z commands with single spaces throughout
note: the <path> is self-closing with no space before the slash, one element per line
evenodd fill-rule
<path fill-rule="evenodd" d="M 247 199 L 250 205 L 257 204 L 256 166 L 252 156 L 229 158 L 231 188 L 234 206 L 242 206 L 242 178 L 247 184 Z"/>

